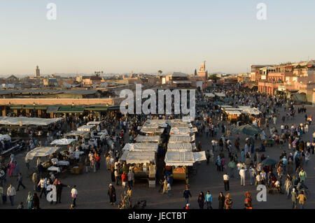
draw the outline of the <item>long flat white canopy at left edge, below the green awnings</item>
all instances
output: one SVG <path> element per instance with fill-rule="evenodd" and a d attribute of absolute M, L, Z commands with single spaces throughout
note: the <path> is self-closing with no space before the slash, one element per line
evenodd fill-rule
<path fill-rule="evenodd" d="M 0 124 L 12 125 L 40 125 L 46 126 L 63 120 L 62 117 L 57 118 L 41 118 L 41 117 L 0 117 Z"/>

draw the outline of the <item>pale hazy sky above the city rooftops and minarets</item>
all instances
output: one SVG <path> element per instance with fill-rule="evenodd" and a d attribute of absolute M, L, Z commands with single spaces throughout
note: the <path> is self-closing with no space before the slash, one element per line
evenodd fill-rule
<path fill-rule="evenodd" d="M 204 60 L 210 73 L 239 73 L 315 59 L 314 10 L 314 0 L 0 0 L 0 75 L 193 73 Z"/>

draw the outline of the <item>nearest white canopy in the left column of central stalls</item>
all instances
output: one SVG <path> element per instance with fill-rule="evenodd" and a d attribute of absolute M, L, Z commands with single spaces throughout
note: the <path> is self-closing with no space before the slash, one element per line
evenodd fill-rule
<path fill-rule="evenodd" d="M 120 157 L 121 161 L 127 164 L 147 164 L 155 163 L 155 152 L 153 151 L 125 151 Z"/>

